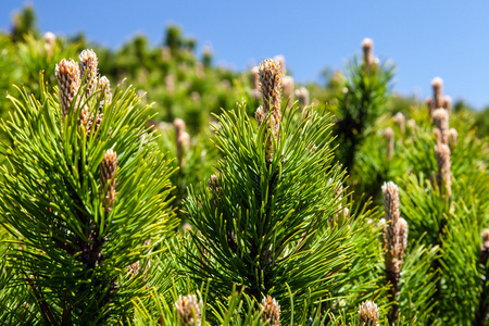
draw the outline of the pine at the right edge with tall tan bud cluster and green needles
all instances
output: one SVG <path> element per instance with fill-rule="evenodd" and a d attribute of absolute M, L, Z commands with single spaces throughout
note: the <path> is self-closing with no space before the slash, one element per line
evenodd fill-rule
<path fill-rule="evenodd" d="M 434 99 L 424 113 L 432 125 L 419 122 L 408 139 L 403 159 L 411 174 L 401 180 L 411 237 L 438 252 L 430 260 L 434 308 L 425 324 L 480 325 L 487 314 L 481 234 L 489 223 L 489 183 L 487 170 L 476 162 L 488 162 L 488 155 L 473 130 L 459 135 L 450 128 L 455 113 L 442 100 L 441 78 L 432 86 Z"/>

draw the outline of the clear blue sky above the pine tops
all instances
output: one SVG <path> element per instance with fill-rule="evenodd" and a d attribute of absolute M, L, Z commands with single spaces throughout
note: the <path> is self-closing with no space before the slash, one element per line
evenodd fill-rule
<path fill-rule="evenodd" d="M 25 1 L 2 0 L 0 28 Z M 476 109 L 489 105 L 489 1 L 54 1 L 33 0 L 41 32 L 117 48 L 136 34 L 161 45 L 176 23 L 199 50 L 210 43 L 216 63 L 243 70 L 250 62 L 285 55 L 296 80 L 318 80 L 360 53 L 364 37 L 397 65 L 394 89 L 430 95 L 440 76 L 444 93 Z M 71 3 L 71 4 L 68 4 Z"/>

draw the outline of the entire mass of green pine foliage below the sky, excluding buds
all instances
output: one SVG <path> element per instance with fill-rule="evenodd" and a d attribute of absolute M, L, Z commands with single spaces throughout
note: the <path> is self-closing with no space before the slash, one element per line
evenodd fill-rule
<path fill-rule="evenodd" d="M 269 294 L 281 325 L 359 325 L 365 300 L 379 308 L 379 325 L 394 308 L 396 325 L 484 325 L 487 110 L 460 101 L 450 112 L 457 143 L 450 141 L 448 198 L 436 181 L 428 110 L 392 95 L 389 63 L 354 58 L 344 71 L 325 71 L 325 83 L 306 85 L 313 105 L 302 114 L 285 99 L 292 109 L 269 163 L 266 124 L 250 118 L 260 104 L 250 72 L 214 66 L 212 52 L 196 53 L 179 27 L 167 27 L 162 47 L 137 35 L 117 50 L 83 34 L 38 35 L 32 8 L 0 35 L 0 90 L 10 95 L 0 98 L 3 324 L 178 325 L 176 302 L 196 294 L 202 325 L 267 325 L 260 306 Z M 55 63 L 85 48 L 103 62 L 101 75 L 134 85 L 116 90 L 88 137 L 80 109 L 87 103 L 95 116 L 101 95 L 78 95 L 63 122 L 52 89 Z M 220 110 L 241 98 L 248 109 Z M 393 122 L 399 112 L 412 120 L 405 127 Z M 175 136 L 175 118 L 185 121 L 188 145 Z M 100 176 L 108 149 L 118 158 L 110 213 Z M 409 225 L 394 301 L 380 218 L 388 180 L 400 187 Z"/>

